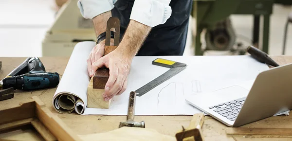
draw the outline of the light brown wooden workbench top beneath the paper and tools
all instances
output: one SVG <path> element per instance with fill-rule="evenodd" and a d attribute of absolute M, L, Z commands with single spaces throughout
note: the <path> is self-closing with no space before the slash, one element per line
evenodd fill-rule
<path fill-rule="evenodd" d="M 274 60 L 280 65 L 292 63 L 292 56 L 273 56 Z M 58 72 L 63 74 L 69 57 L 44 57 L 40 58 L 46 67 L 46 71 Z M 2 69 L 0 78 L 5 77 L 10 71 L 22 63 L 25 58 L 0 58 Z M 120 121 L 125 121 L 126 116 L 104 116 L 104 115 L 85 115 L 76 113 L 60 114 L 52 106 L 52 98 L 56 88 L 37 90 L 37 91 L 17 91 L 13 99 L 0 101 L 0 110 L 11 106 L 18 106 L 20 102 L 28 101 L 32 96 L 38 96 L 46 106 L 64 123 L 66 123 L 76 134 L 93 134 L 107 132 L 118 128 Z M 175 136 L 175 133 L 190 123 L 192 116 L 135 116 L 135 120 L 146 122 L 146 128 L 156 129 L 165 135 Z M 265 128 L 292 128 L 292 116 L 270 117 L 255 123 L 250 123 L 242 127 L 265 127 Z M 226 125 L 216 121 L 210 116 L 205 117 L 202 127 L 206 141 L 291 141 L 285 138 L 249 138 L 246 137 L 227 137 L 225 133 Z"/>

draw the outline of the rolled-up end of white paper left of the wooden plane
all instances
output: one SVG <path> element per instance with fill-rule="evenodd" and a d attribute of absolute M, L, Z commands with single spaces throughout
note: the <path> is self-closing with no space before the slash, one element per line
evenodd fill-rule
<path fill-rule="evenodd" d="M 90 81 L 87 58 L 95 44 L 85 41 L 74 47 L 52 101 L 58 112 L 75 111 L 83 114 L 87 106 L 87 87 Z"/>

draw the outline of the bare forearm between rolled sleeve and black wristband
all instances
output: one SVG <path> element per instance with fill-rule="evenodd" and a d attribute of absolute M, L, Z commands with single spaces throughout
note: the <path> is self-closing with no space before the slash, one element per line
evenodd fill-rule
<path fill-rule="evenodd" d="M 92 18 L 96 37 L 102 34 L 103 32 L 106 32 L 107 21 L 109 20 L 110 17 L 111 11 L 108 11 Z"/>

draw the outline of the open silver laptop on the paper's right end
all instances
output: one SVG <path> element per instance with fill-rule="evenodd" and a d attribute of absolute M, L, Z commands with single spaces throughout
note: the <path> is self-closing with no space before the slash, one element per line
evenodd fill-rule
<path fill-rule="evenodd" d="M 291 110 L 292 64 L 259 73 L 250 90 L 235 85 L 193 94 L 186 102 L 231 127 Z"/>

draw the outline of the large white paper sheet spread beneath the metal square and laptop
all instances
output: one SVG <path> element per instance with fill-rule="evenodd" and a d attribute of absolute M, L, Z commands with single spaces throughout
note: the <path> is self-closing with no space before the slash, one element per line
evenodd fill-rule
<path fill-rule="evenodd" d="M 93 46 L 93 42 L 81 42 L 75 46 L 74 50 L 92 48 Z M 86 96 L 86 88 L 89 83 L 88 73 L 86 72 L 86 59 L 89 53 L 80 55 L 79 57 L 84 58 L 79 59 L 84 60 L 84 62 L 75 64 L 75 67 L 79 68 L 77 70 L 83 70 L 80 72 L 82 75 L 74 76 L 74 80 L 79 80 L 78 85 L 82 85 L 82 87 L 77 90 L 73 88 L 76 86 L 66 85 L 66 87 L 63 87 L 61 86 L 62 83 L 59 85 L 62 90 L 71 91 L 71 93 L 81 98 L 83 102 L 87 102 L 84 96 Z M 169 70 L 168 68 L 152 65 L 152 61 L 158 57 L 185 63 L 187 67 L 145 95 L 137 96 L 135 115 L 193 115 L 199 113 L 201 112 L 200 110 L 185 102 L 185 96 L 252 80 L 261 71 L 269 69 L 267 65 L 257 62 L 250 56 L 136 56 L 132 61 L 128 76 L 127 90 L 120 96 L 113 98 L 109 109 L 85 108 L 82 114 L 127 115 L 129 92 L 137 90 Z M 71 71 L 75 70 L 71 69 Z M 62 79 L 64 79 L 64 76 Z M 73 82 L 70 81 L 70 83 Z M 84 105 L 86 106 L 85 103 Z"/>

